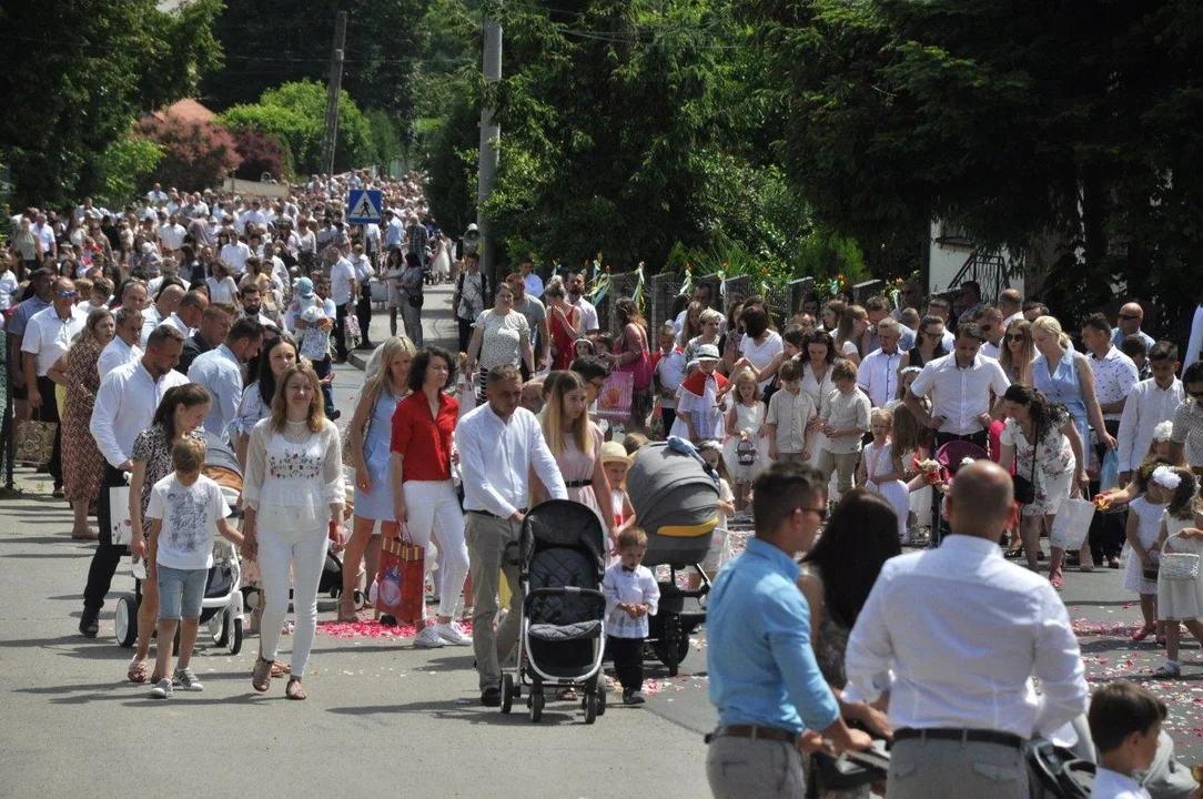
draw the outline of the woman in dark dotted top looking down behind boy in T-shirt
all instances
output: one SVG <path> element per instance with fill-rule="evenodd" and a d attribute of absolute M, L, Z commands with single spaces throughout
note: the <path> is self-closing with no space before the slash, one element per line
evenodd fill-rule
<path fill-rule="evenodd" d="M 130 462 L 134 464 L 130 477 L 130 523 L 135 534 L 130 541 L 130 555 L 136 558 L 146 557 L 150 538 L 150 520 L 146 515 L 147 505 L 150 504 L 150 489 L 174 470 L 171 450 L 176 444 L 185 438 L 205 440 L 201 425 L 209 415 L 211 402 L 209 392 L 200 383 L 167 389 L 154 412 L 150 426 L 134 439 L 130 454 Z M 142 581 L 142 603 L 138 605 L 138 644 L 126 670 L 131 682 L 144 682 L 147 679 L 150 635 L 159 617 L 159 582 L 154 561 L 147 561 L 146 567 L 147 579 Z M 161 676 L 152 675 L 150 682 L 158 682 Z"/>

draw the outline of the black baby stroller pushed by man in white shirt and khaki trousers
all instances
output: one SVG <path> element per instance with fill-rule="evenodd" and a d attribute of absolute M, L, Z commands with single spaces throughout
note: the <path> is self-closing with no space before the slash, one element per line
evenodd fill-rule
<path fill-rule="evenodd" d="M 531 509 L 517 541 L 522 621 L 517 677 L 502 676 L 502 712 L 531 686 L 531 721 L 543 717 L 545 686 L 580 688 L 585 723 L 605 712 L 605 532 L 586 505 L 553 499 Z"/>

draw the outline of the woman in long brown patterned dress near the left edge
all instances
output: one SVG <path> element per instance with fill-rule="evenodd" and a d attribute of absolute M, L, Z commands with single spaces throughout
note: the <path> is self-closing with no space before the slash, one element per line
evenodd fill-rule
<path fill-rule="evenodd" d="M 88 430 L 88 422 L 100 389 L 96 361 L 100 360 L 100 351 L 113 341 L 115 331 L 113 314 L 103 308 L 93 310 L 71 349 L 47 372 L 67 395 L 63 408 L 63 485 L 75 511 L 71 538 L 78 540 L 99 538 L 96 531 L 88 527 L 88 507 L 100 496 L 105 458 Z"/>

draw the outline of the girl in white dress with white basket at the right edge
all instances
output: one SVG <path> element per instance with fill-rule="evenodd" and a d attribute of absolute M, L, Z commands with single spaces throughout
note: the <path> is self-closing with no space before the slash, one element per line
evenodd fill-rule
<path fill-rule="evenodd" d="M 1169 504 L 1161 514 L 1161 535 L 1155 548 L 1162 554 L 1183 552 L 1203 555 L 1203 513 L 1199 511 L 1198 483 L 1190 469 L 1158 467 L 1154 480 L 1172 492 Z M 1203 644 L 1203 572 L 1193 580 L 1168 580 L 1157 573 L 1157 621 L 1166 629 L 1166 662 L 1152 673 L 1156 677 L 1177 677 L 1178 623 L 1186 625 L 1191 635 Z M 1168 622 L 1168 623 L 1167 623 Z"/>

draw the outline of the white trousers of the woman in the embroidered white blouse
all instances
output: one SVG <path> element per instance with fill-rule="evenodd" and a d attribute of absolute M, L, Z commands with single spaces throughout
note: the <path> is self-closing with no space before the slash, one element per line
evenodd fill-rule
<path fill-rule="evenodd" d="M 263 519 L 260 516 L 260 519 Z M 263 519 L 263 521 L 269 521 Z M 303 677 L 313 649 L 313 637 L 318 631 L 318 581 L 326 564 L 326 546 L 330 544 L 326 525 L 321 527 L 273 529 L 262 527 L 259 532 L 259 573 L 263 581 L 267 605 L 259 634 L 262 639 L 263 658 L 275 659 L 280 644 L 280 627 L 289 614 L 289 585 L 292 586 L 292 611 L 296 628 L 292 638 L 292 676 Z"/>

